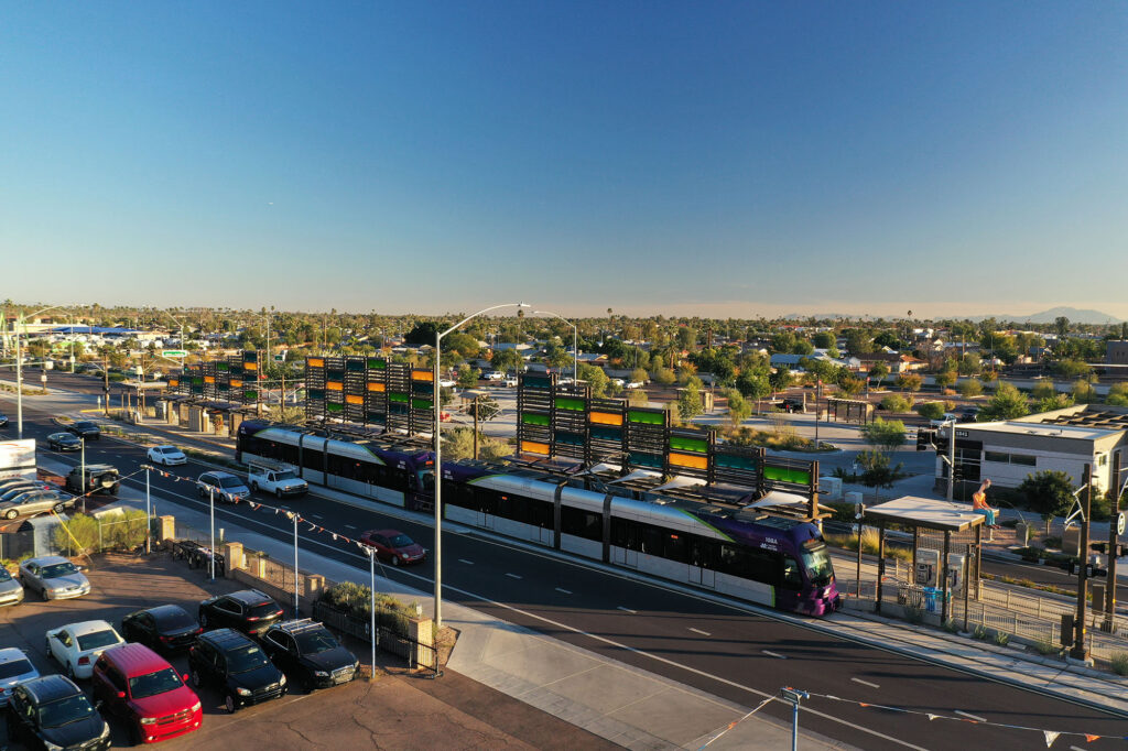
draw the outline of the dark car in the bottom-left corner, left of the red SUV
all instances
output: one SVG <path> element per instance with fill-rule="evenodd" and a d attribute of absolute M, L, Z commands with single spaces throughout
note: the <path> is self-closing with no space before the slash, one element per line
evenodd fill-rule
<path fill-rule="evenodd" d="M 82 689 L 62 675 L 20 683 L 8 701 L 8 737 L 27 748 L 109 748 L 109 725 Z"/>

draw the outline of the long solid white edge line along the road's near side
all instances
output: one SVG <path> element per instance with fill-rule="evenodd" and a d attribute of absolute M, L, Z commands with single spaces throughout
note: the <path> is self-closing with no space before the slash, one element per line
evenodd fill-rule
<path fill-rule="evenodd" d="M 136 485 L 136 486 L 139 486 L 139 487 L 144 487 L 144 484 L 140 483 L 140 481 L 135 481 L 133 484 Z M 206 503 L 204 503 L 202 501 L 199 501 L 197 498 L 190 497 L 190 496 L 186 496 L 186 495 L 182 495 L 179 493 L 174 493 L 171 491 L 164 491 L 162 495 L 173 495 L 173 496 L 183 498 L 183 500 L 187 501 L 190 504 L 194 504 L 196 506 L 203 506 L 203 507 L 208 506 Z M 223 510 L 223 511 L 226 512 L 227 510 Z M 263 527 L 263 528 L 266 528 L 266 529 L 268 529 L 271 531 L 274 531 L 274 532 L 284 531 L 284 530 L 281 530 L 281 528 L 272 527 L 272 525 L 266 524 L 264 522 L 261 522 L 261 521 L 258 521 L 256 519 L 250 519 L 248 516 L 243 516 L 240 514 L 235 514 L 235 513 L 231 513 L 231 515 L 232 516 L 237 516 L 244 523 L 250 523 L 250 524 L 255 524 L 257 527 Z M 315 539 L 311 539 L 311 538 L 306 538 L 305 541 L 306 541 L 307 545 L 317 546 L 319 548 L 326 548 L 326 549 L 333 550 L 337 555 L 342 555 L 343 554 L 345 556 L 355 558 L 358 560 L 362 560 L 362 562 L 364 562 L 365 565 L 368 564 L 368 556 L 367 555 L 361 555 L 359 553 L 353 553 L 352 550 L 349 550 L 349 549 L 342 549 L 342 548 L 336 547 L 336 546 L 326 545 L 325 542 L 321 542 L 320 540 L 315 540 Z M 397 573 L 400 574 L 402 576 L 407 576 L 409 578 L 415 578 L 415 580 L 418 580 L 421 582 L 426 582 L 426 583 L 430 583 L 430 584 L 434 583 L 433 578 L 429 577 L 429 576 L 424 576 L 423 574 L 416 574 L 415 572 L 403 571 L 400 568 Z M 737 689 L 739 691 L 744 691 L 747 693 L 751 693 L 752 696 L 758 696 L 761 699 L 767 699 L 768 697 L 773 697 L 774 698 L 776 696 L 775 693 L 768 693 L 766 691 L 761 691 L 759 689 L 752 688 L 751 686 L 744 686 L 742 683 L 738 683 L 737 681 L 729 680 L 728 678 L 721 678 L 720 675 L 716 675 L 715 673 L 708 673 L 708 672 L 706 672 L 704 670 L 698 670 L 697 668 L 691 668 L 689 665 L 684 665 L 680 662 L 675 662 L 673 660 L 670 660 L 669 657 L 662 657 L 662 656 L 656 655 L 656 654 L 651 654 L 650 652 L 646 652 L 644 650 L 640 650 L 637 647 L 633 647 L 633 646 L 631 646 L 628 644 L 623 644 L 622 642 L 616 642 L 615 639 L 609 639 L 606 636 L 599 636 L 598 634 L 591 634 L 591 633 L 585 631 L 585 630 L 583 630 L 581 628 L 576 628 L 575 626 L 570 626 L 569 624 L 563 624 L 563 622 L 561 622 L 558 620 L 553 620 L 552 618 L 546 618 L 545 616 L 541 616 L 539 613 L 530 612 L 528 610 L 522 610 L 521 608 L 517 608 L 514 606 L 511 606 L 508 602 L 499 602 L 496 600 L 492 600 L 492 599 L 490 599 L 490 598 L 487 598 L 487 597 L 485 597 L 483 594 L 478 594 L 477 592 L 470 592 L 469 590 L 464 590 L 464 589 L 461 589 L 459 586 L 453 586 L 451 584 L 443 584 L 443 589 L 449 590 L 451 592 L 458 592 L 459 594 L 464 594 L 464 595 L 466 595 L 468 598 L 474 598 L 475 600 L 481 600 L 482 602 L 491 604 L 491 606 L 493 606 L 495 608 L 501 608 L 503 610 L 509 610 L 510 612 L 515 612 L 515 613 L 518 613 L 520 616 L 525 616 L 526 618 L 531 618 L 534 620 L 539 620 L 539 621 L 541 621 L 541 622 L 544 622 L 544 624 L 546 624 L 548 626 L 552 626 L 553 628 L 558 628 L 558 629 L 563 629 L 565 631 L 571 631 L 571 633 L 576 634 L 579 636 L 585 636 L 589 639 L 592 639 L 593 642 L 600 642 L 600 643 L 606 644 L 608 646 L 613 646 L 613 647 L 615 647 L 617 650 L 623 650 L 624 652 L 629 652 L 629 653 L 636 654 L 636 655 L 638 655 L 641 657 L 646 657 L 647 660 L 652 660 L 654 662 L 662 663 L 663 665 L 669 665 L 670 668 L 677 668 L 678 670 L 685 671 L 687 673 L 691 673 L 691 674 L 697 675 L 699 678 L 705 678 L 705 679 L 708 679 L 708 680 L 716 681 L 717 683 L 723 683 L 724 686 L 729 686 L 730 688 L 734 688 L 734 689 Z M 836 717 L 836 716 L 827 714 L 825 712 L 820 712 L 818 709 L 812 709 L 809 706 L 801 706 L 800 709 L 803 710 L 803 712 L 810 713 L 811 715 L 814 715 L 816 717 L 822 717 L 823 719 L 829 719 L 830 722 L 835 722 L 835 723 L 838 723 L 839 725 L 845 725 L 846 727 L 856 730 L 860 733 L 866 733 L 869 735 L 873 735 L 875 737 L 880 737 L 882 740 L 889 741 L 890 743 L 896 743 L 897 745 L 904 746 L 906 749 L 913 749 L 914 751 L 928 751 L 927 749 L 925 749 L 923 746 L 919 746 L 919 745 L 916 745 L 916 744 L 913 744 L 913 743 L 909 743 L 908 741 L 902 741 L 901 739 L 893 737 L 892 735 L 887 735 L 884 733 L 881 733 L 879 731 L 872 730 L 870 727 L 864 727 L 862 725 L 858 725 L 857 723 L 852 723 L 848 719 L 843 719 L 841 717 Z"/>

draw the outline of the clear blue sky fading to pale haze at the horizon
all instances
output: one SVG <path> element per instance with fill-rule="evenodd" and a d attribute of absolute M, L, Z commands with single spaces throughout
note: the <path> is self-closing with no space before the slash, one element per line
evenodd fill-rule
<path fill-rule="evenodd" d="M 0 17 L 0 297 L 1128 318 L 1126 2 Z"/>

